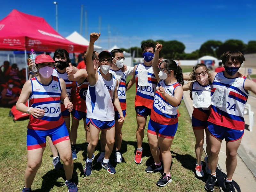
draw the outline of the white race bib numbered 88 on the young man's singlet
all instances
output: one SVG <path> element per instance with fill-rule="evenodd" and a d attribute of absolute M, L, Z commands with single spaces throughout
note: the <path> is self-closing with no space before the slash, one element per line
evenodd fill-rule
<path fill-rule="evenodd" d="M 226 89 L 215 89 L 212 95 L 212 105 L 219 108 L 226 108 L 229 91 Z"/>

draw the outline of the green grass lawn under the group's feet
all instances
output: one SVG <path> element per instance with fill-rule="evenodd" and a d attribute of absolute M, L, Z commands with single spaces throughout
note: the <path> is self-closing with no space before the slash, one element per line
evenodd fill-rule
<path fill-rule="evenodd" d="M 143 158 L 141 164 L 134 163 L 134 152 L 136 149 L 135 131 L 137 128 L 134 110 L 135 86 L 127 92 L 127 116 L 122 129 L 123 143 L 121 152 L 124 162 L 116 164 L 114 154 L 111 155 L 111 163 L 116 168 L 116 174 L 111 175 L 100 164 L 96 163 L 99 156 L 100 145 L 95 151 L 96 158 L 90 177 L 84 177 L 83 167 L 86 158 L 85 132 L 83 123 L 78 128 L 77 145 L 82 147 L 78 158 L 74 160 L 73 178 L 78 190 L 90 191 L 205 191 L 204 184 L 207 175 L 202 179 L 195 177 L 195 137 L 191 126 L 187 109 L 182 102 L 179 112 L 179 126 L 171 147 L 172 152 L 172 182 L 164 188 L 156 186 L 156 181 L 161 176 L 160 172 L 146 173 L 145 169 L 153 163 L 148 146 L 147 130 L 143 140 Z M 21 191 L 24 186 L 24 171 L 27 166 L 26 134 L 28 120 L 12 121 L 8 117 L 9 108 L 0 108 L 0 188 L 2 191 Z M 148 118 L 149 119 L 149 118 Z M 146 126 L 147 127 L 147 126 Z M 202 161 L 204 161 L 204 156 Z M 43 155 L 43 163 L 39 168 L 32 190 L 34 192 L 63 192 L 67 191 L 64 183 L 65 174 L 63 170 L 54 170 L 52 165 L 52 154 L 47 144 Z M 215 191 L 220 191 L 215 188 Z"/>

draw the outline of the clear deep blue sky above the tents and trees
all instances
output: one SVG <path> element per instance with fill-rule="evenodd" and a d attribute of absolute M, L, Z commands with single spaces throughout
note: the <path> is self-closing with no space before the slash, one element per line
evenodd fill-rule
<path fill-rule="evenodd" d="M 99 31 L 101 17 L 101 36 L 96 45 L 103 49 L 114 45 L 124 48 L 140 47 L 143 40 L 163 39 L 182 42 L 186 46 L 185 52 L 189 53 L 199 49 L 207 40 L 224 42 L 228 39 L 239 39 L 245 44 L 250 40 L 256 40 L 255 0 L 57 0 L 57 3 L 58 32 L 64 37 L 74 31 L 80 33 L 82 4 L 88 18 L 86 39 L 89 39 L 91 32 Z M 2 1 L 0 20 L 13 9 L 43 17 L 54 29 L 56 28 L 53 0 Z M 82 36 L 85 34 L 83 13 Z"/>

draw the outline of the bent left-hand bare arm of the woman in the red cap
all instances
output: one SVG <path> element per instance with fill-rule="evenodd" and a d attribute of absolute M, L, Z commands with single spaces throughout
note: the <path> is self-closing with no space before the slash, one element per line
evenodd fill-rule
<path fill-rule="evenodd" d="M 20 97 L 16 103 L 16 109 L 22 113 L 27 113 L 29 107 L 26 106 L 26 102 L 28 101 L 29 95 L 32 92 L 32 85 L 31 85 L 31 81 L 28 80 L 20 93 Z M 41 119 L 44 116 L 44 110 L 40 109 L 40 108 L 30 108 L 29 110 L 30 114 L 33 115 L 34 117 Z"/>

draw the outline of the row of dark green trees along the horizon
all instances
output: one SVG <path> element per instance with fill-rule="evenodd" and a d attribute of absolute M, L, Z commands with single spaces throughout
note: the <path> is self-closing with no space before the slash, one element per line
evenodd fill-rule
<path fill-rule="evenodd" d="M 164 40 L 157 40 L 154 41 L 152 39 L 148 39 L 144 42 L 151 42 L 156 44 L 163 45 L 163 49 L 159 54 L 159 58 L 164 59 L 180 59 L 180 60 L 197 60 L 198 58 L 210 55 L 220 59 L 222 53 L 228 50 L 239 50 L 243 54 L 246 53 L 256 53 L 256 41 L 249 41 L 248 44 L 244 44 L 241 40 L 236 39 L 229 39 L 222 43 L 221 41 L 209 40 L 204 42 L 200 49 L 193 51 L 191 53 L 185 53 L 185 45 L 179 41 L 172 40 L 172 41 L 164 41 Z M 140 47 L 131 47 L 130 49 L 121 48 L 123 51 L 130 52 L 134 54 L 135 57 L 142 57 L 141 55 L 141 48 Z"/>

